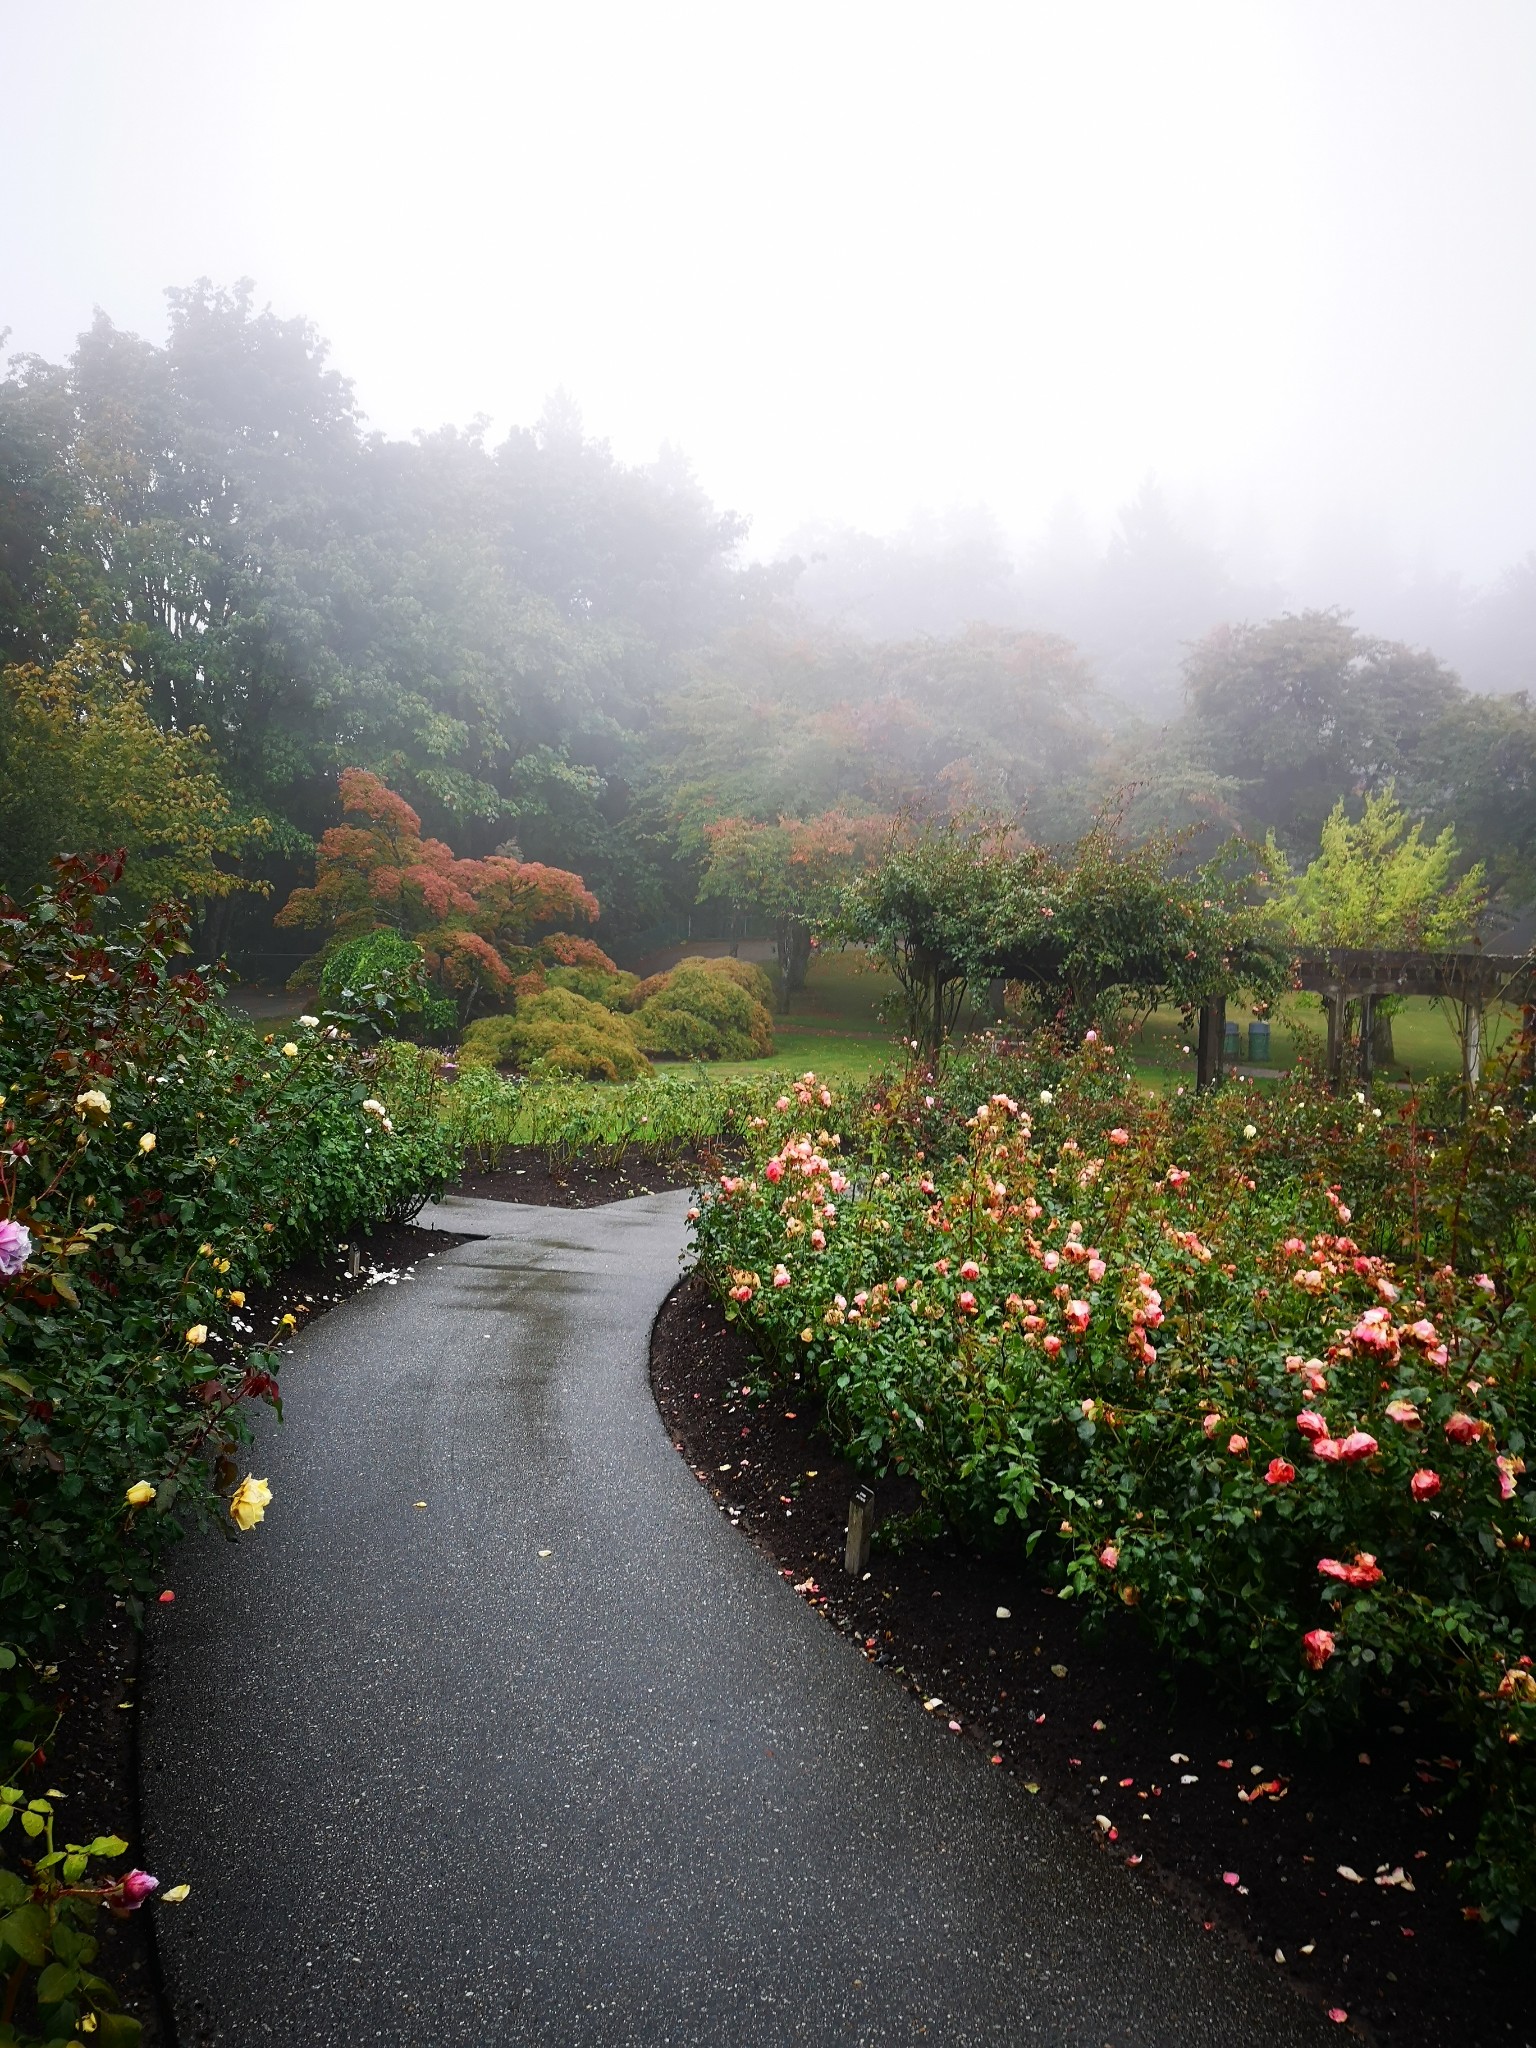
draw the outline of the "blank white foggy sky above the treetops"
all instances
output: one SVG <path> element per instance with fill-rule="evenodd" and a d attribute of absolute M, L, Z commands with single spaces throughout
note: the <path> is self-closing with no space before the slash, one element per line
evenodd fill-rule
<path fill-rule="evenodd" d="M 754 553 L 1149 473 L 1303 580 L 1536 547 L 1530 0 L 0 0 L 0 80 L 10 350 L 254 276 L 379 428 L 565 387 Z"/>

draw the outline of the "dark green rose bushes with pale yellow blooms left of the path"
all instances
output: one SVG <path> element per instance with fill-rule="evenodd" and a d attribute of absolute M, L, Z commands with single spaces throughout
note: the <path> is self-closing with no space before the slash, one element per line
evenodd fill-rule
<path fill-rule="evenodd" d="M 121 858 L 57 870 L 0 903 L 0 1604 L 27 1651 L 139 1597 L 188 1520 L 250 1526 L 242 1409 L 279 1384 L 246 1290 L 457 1167 L 434 1055 L 262 1038 L 172 973 L 178 915 L 98 928 Z"/>

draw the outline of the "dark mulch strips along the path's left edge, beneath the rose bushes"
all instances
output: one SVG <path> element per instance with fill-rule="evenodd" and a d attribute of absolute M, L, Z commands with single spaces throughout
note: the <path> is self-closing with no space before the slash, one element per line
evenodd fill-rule
<path fill-rule="evenodd" d="M 408 1225 L 381 1225 L 356 1239 L 358 1272 L 348 1274 L 350 1247 L 301 1260 L 287 1268 L 272 1286 L 254 1288 L 246 1303 L 252 1343 L 281 1343 L 285 1313 L 313 1321 L 348 1294 L 365 1286 L 387 1284 L 391 1276 L 418 1260 L 467 1245 L 469 1235 L 453 1231 L 418 1231 Z M 168 1567 L 170 1569 L 170 1567 Z M 49 1667 L 47 1692 L 59 1710 L 57 1733 L 47 1741 L 37 1765 L 23 1774 L 29 1794 L 57 1788 L 59 1841 L 90 1841 L 94 1835 L 123 1835 L 129 1860 L 139 1849 L 139 1765 L 137 1714 L 133 1700 L 139 1679 L 141 1636 L 125 1610 L 115 1606 Z M 178 1872 L 156 1872 L 164 1886 Z M 145 2048 L 168 2048 L 174 2040 L 160 1999 L 160 1972 L 154 1952 L 154 1915 L 195 1913 L 197 1896 L 184 1907 L 147 1907 L 127 1919 L 98 1917 L 102 1939 L 96 1970 L 119 1993 L 123 2009 L 143 2021 Z"/>

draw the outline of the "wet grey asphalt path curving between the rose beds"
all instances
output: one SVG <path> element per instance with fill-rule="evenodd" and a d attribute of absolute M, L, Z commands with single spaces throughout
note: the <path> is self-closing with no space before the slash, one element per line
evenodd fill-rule
<path fill-rule="evenodd" d="M 154 1614 L 180 2048 L 1337 2040 L 717 1513 L 647 1384 L 684 1206 L 451 1200 L 293 1343 L 266 1522 Z"/>

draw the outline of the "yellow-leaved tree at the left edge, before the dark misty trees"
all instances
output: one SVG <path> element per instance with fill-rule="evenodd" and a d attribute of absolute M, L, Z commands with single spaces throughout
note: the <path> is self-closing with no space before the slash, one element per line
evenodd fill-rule
<path fill-rule="evenodd" d="M 260 887 L 240 872 L 266 838 L 219 780 L 207 733 L 166 731 L 131 659 L 82 618 L 47 666 L 0 670 L 0 885 L 20 891 L 53 854 L 127 848 L 123 895 L 207 901 Z"/>

